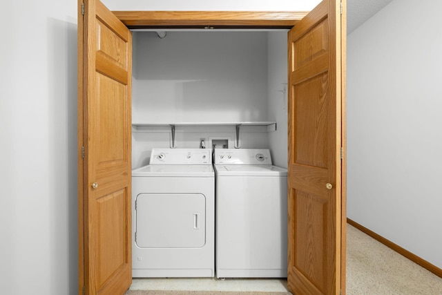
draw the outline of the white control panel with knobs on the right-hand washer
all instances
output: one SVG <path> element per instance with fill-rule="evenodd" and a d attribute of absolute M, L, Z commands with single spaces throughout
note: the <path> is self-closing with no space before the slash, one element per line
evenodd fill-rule
<path fill-rule="evenodd" d="M 271 165 L 269 149 L 215 149 L 213 164 Z"/>

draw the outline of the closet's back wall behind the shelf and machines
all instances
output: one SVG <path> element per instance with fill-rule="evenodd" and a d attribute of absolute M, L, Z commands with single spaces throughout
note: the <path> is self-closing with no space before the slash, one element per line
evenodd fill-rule
<path fill-rule="evenodd" d="M 267 32 L 134 32 L 133 122 L 268 121 Z M 287 46 L 285 47 L 287 48 Z M 286 49 L 287 50 L 287 49 Z M 282 68 L 285 72 L 287 66 Z M 265 127 L 242 126 L 242 148 L 269 148 Z M 151 149 L 171 145 L 168 127 L 133 132 L 133 167 L 148 164 Z M 207 147 L 235 126 L 177 126 L 175 146 Z"/>

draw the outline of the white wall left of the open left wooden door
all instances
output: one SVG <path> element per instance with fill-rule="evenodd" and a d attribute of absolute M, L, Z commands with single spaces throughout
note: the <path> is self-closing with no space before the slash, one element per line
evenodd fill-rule
<path fill-rule="evenodd" d="M 76 294 L 76 3 L 2 3 L 1 294 Z"/>

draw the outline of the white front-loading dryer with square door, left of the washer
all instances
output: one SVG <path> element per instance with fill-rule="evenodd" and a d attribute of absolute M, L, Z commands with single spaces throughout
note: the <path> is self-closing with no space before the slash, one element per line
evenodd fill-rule
<path fill-rule="evenodd" d="M 153 149 L 132 171 L 132 275 L 213 277 L 211 149 Z"/>

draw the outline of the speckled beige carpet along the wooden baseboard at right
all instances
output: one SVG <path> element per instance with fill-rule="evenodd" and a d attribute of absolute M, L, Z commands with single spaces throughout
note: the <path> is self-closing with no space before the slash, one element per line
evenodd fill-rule
<path fill-rule="evenodd" d="M 441 295 L 442 278 L 347 224 L 347 295 Z"/>

